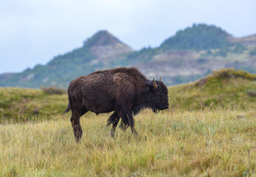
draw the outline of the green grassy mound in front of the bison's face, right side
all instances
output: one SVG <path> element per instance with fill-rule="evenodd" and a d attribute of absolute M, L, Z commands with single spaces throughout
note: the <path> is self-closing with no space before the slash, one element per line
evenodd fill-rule
<path fill-rule="evenodd" d="M 221 69 L 195 83 L 169 89 L 170 107 L 256 108 L 256 75 L 234 69 Z"/>

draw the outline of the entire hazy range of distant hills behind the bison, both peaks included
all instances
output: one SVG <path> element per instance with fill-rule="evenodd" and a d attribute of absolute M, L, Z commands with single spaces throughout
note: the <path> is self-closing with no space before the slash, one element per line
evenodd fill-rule
<path fill-rule="evenodd" d="M 151 79 L 161 76 L 167 85 L 197 80 L 223 68 L 256 73 L 255 36 L 235 38 L 219 27 L 193 24 L 159 47 L 134 51 L 109 32 L 100 31 L 80 48 L 58 55 L 44 66 L 0 74 L 0 86 L 66 88 L 75 77 L 117 66 L 136 66 Z"/>

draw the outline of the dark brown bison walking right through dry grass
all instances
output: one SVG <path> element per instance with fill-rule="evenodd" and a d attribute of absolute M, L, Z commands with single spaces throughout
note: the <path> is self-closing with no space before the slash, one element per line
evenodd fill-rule
<path fill-rule="evenodd" d="M 116 68 L 93 72 L 77 77 L 69 83 L 69 105 L 65 113 L 72 111 L 72 128 L 79 142 L 83 131 L 80 117 L 91 111 L 96 114 L 114 111 L 108 118 L 112 124 L 111 136 L 114 136 L 120 118 L 122 129 L 131 126 L 136 134 L 133 115 L 142 108 L 151 108 L 154 112 L 169 108 L 168 90 L 160 80 L 148 80 L 138 69 Z"/>

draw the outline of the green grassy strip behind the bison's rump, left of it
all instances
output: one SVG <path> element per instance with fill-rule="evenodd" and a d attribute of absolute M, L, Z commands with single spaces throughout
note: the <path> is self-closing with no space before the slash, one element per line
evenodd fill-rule
<path fill-rule="evenodd" d="M 68 104 L 67 94 L 39 89 L 0 88 L 0 123 L 50 119 Z"/>

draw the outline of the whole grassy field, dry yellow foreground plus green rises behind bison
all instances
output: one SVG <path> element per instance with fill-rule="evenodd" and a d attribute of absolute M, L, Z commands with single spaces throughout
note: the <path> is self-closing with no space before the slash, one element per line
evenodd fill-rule
<path fill-rule="evenodd" d="M 169 88 L 170 109 L 135 117 L 138 136 L 81 117 L 66 94 L 0 89 L 0 176 L 256 176 L 255 75 L 227 70 Z"/>

